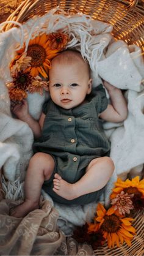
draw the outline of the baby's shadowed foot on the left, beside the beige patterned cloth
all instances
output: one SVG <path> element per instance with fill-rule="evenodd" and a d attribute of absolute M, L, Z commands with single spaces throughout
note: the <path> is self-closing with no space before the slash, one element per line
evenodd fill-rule
<path fill-rule="evenodd" d="M 10 215 L 13 217 L 25 217 L 30 211 L 38 208 L 38 204 L 32 203 L 32 201 L 24 201 L 21 205 L 10 209 Z"/>

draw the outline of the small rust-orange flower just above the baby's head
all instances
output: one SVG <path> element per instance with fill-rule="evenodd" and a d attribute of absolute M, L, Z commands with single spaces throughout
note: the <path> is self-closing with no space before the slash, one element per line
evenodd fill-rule
<path fill-rule="evenodd" d="M 67 45 L 69 37 L 67 34 L 63 34 L 62 32 L 51 33 L 48 35 L 48 46 L 54 50 L 57 49 L 62 51 Z"/>

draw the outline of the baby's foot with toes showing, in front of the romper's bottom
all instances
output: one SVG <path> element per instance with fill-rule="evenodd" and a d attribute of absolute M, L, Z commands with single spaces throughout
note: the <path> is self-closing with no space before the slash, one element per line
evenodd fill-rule
<path fill-rule="evenodd" d="M 54 175 L 54 192 L 60 197 L 63 197 L 67 200 L 73 200 L 77 198 L 76 190 L 74 189 L 74 184 L 67 183 L 62 177 L 60 177 L 57 173 Z"/>

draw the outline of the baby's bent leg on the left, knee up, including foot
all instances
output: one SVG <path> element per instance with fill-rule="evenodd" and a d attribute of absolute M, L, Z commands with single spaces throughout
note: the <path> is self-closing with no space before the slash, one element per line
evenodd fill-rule
<path fill-rule="evenodd" d="M 24 183 L 24 203 L 13 208 L 11 216 L 24 217 L 39 207 L 41 187 L 51 177 L 54 166 L 54 159 L 49 154 L 38 152 L 31 158 Z"/>

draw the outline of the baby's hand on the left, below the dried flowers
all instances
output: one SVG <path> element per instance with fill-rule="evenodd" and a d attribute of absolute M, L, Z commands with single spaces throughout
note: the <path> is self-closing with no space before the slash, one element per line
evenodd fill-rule
<path fill-rule="evenodd" d="M 20 104 L 15 105 L 11 110 L 12 113 L 21 121 L 25 121 L 29 115 L 29 108 L 26 100 L 22 100 Z"/>

